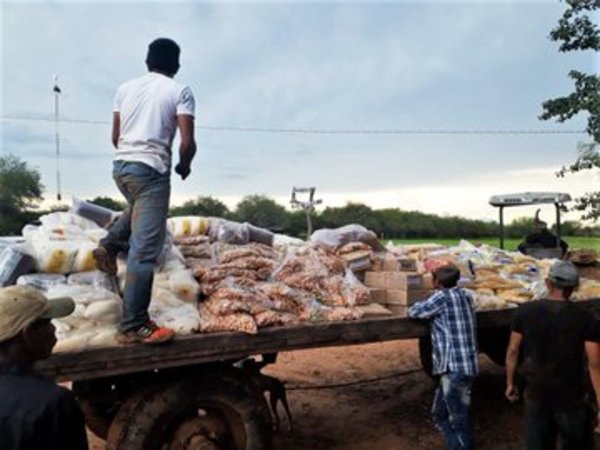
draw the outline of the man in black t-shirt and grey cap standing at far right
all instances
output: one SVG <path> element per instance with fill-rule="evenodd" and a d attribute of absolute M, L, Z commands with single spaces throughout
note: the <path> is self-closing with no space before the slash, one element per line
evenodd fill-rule
<path fill-rule="evenodd" d="M 552 265 L 546 280 L 546 299 L 522 305 L 515 313 L 506 354 L 506 397 L 514 401 L 519 372 L 526 387 L 526 448 L 593 448 L 593 415 L 587 399 L 587 371 L 600 400 L 600 323 L 591 312 L 569 301 L 579 284 L 575 266 Z M 587 361 L 586 361 L 587 356 Z"/>

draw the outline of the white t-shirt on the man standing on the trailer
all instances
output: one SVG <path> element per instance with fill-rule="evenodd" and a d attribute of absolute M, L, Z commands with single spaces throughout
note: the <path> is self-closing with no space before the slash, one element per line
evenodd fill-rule
<path fill-rule="evenodd" d="M 142 162 L 165 173 L 171 168 L 177 116 L 194 115 L 194 95 L 188 86 L 149 72 L 119 86 L 113 111 L 121 118 L 115 160 Z"/>

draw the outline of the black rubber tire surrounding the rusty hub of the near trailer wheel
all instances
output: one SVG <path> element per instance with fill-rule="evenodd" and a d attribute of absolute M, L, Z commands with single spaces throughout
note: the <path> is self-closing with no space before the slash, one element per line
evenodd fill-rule
<path fill-rule="evenodd" d="M 262 395 L 234 374 L 172 382 L 133 395 L 117 413 L 107 450 L 158 450 L 169 443 L 190 411 L 210 405 L 233 413 L 243 425 L 245 446 L 229 450 L 270 450 L 272 422 Z"/>

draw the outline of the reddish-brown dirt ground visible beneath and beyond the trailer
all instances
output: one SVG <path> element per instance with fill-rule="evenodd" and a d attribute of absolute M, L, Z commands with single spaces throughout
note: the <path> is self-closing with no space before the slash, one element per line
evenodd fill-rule
<path fill-rule="evenodd" d="M 481 363 L 472 404 L 476 448 L 522 449 L 522 405 L 504 399 L 503 369 L 484 356 Z M 416 341 L 280 354 L 277 364 L 265 373 L 290 388 L 294 430 L 289 433 L 283 419 L 275 449 L 442 450 L 443 441 L 429 414 L 434 382 L 423 372 L 394 376 L 419 367 Z M 347 387 L 295 389 L 375 378 L 382 379 Z M 93 450 L 104 449 L 103 441 L 91 434 L 90 443 Z"/>

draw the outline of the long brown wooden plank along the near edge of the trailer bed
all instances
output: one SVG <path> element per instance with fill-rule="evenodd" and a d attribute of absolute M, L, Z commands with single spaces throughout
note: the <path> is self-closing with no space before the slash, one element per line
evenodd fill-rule
<path fill-rule="evenodd" d="M 600 308 L 600 299 L 584 302 Z M 516 308 L 477 313 L 478 328 L 508 326 Z M 140 371 L 244 358 L 249 355 L 328 346 L 414 339 L 428 323 L 407 317 L 377 317 L 351 322 L 304 323 L 264 328 L 257 335 L 197 334 L 162 345 L 132 345 L 54 354 L 36 368 L 57 381 L 90 379 Z"/>

